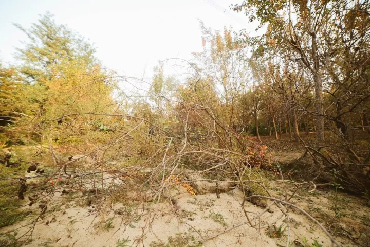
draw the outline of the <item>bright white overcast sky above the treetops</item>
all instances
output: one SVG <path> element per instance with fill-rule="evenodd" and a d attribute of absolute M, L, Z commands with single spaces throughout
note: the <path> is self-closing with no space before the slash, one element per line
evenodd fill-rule
<path fill-rule="evenodd" d="M 237 0 L 0 0 L 0 59 L 14 64 L 14 47 L 26 36 L 12 25 L 28 28 L 49 11 L 58 24 L 88 38 L 97 48 L 102 64 L 127 76 L 151 76 L 158 60 L 190 59 L 201 51 L 199 19 L 207 27 L 234 31 L 247 28 L 254 33 L 242 13 L 229 11 Z M 218 4 L 213 7 L 213 4 Z M 220 8 L 220 6 L 222 8 Z M 220 10 L 221 11 L 220 11 Z M 226 10 L 224 13 L 222 10 Z"/>

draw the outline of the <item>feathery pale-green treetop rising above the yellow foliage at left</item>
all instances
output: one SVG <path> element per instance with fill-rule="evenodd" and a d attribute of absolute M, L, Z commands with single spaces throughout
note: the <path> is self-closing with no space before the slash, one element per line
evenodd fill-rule
<path fill-rule="evenodd" d="M 15 26 L 29 38 L 25 48 L 17 48 L 17 58 L 23 61 L 20 73 L 29 82 L 50 80 L 55 76 L 55 66 L 67 61 L 88 68 L 97 63 L 93 46 L 65 25 L 56 24 L 50 13 L 42 15 L 29 29 Z"/>

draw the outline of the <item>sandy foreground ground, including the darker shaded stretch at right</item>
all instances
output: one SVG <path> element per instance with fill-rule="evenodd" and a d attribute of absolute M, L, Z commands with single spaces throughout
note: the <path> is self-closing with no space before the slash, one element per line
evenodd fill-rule
<path fill-rule="evenodd" d="M 291 162 L 301 155 L 292 152 L 288 156 L 276 156 L 279 162 Z M 281 183 L 271 182 L 270 188 L 273 197 L 284 199 L 285 189 L 291 195 L 289 187 L 284 188 Z M 108 199 L 103 201 L 102 211 L 97 214 L 98 205 L 86 206 L 88 195 L 55 192 L 46 217 L 35 224 L 26 246 L 159 247 L 170 243 L 169 247 L 183 247 L 187 243 L 195 246 L 196 240 L 204 240 L 196 246 L 286 246 L 287 222 L 285 217 L 279 218 L 281 212 L 272 206 L 259 221 L 253 221 L 255 228 L 250 227 L 241 207 L 243 193 L 238 188 L 221 193 L 220 198 L 205 191 L 204 195 L 191 196 L 182 186 L 164 192 L 167 199 L 152 206 L 151 215 L 148 205 L 138 206 L 134 201 L 123 205 Z M 290 202 L 321 222 L 342 246 L 370 246 L 370 204 L 366 199 L 326 189 L 313 193 L 300 191 Z M 0 232 L 18 231 L 21 236 L 28 231 L 32 219 L 40 212 L 39 203 L 28 208 L 33 211 L 29 221 L 3 227 Z M 263 207 L 247 202 L 245 210 L 253 218 Z M 309 246 L 314 240 L 324 247 L 331 246 L 330 239 L 318 225 L 300 211 L 290 210 L 289 217 L 292 244 L 289 246 L 304 246 L 303 237 Z M 266 227 L 271 222 L 275 222 L 273 226 Z M 146 227 L 148 224 L 150 227 Z M 282 235 L 274 235 L 280 226 Z"/>

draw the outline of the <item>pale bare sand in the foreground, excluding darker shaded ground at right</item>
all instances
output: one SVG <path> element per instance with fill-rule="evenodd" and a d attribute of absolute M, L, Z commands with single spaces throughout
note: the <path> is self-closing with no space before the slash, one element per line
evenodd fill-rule
<path fill-rule="evenodd" d="M 278 190 L 276 195 L 280 192 Z M 176 236 L 181 236 L 182 239 L 186 239 L 186 242 L 210 238 L 203 243 L 203 246 L 279 246 L 277 244 L 285 246 L 287 241 L 287 231 L 284 231 L 285 236 L 281 238 L 269 236 L 280 225 L 283 224 L 283 228 L 285 227 L 284 217 L 275 223 L 275 231 L 271 227 L 263 227 L 263 225 L 275 221 L 280 215 L 280 211 L 276 208 L 272 208 L 273 213 L 266 212 L 262 219 L 256 222 L 256 227 L 261 227 L 259 230 L 244 224 L 229 231 L 235 225 L 247 223 L 240 204 L 243 194 L 237 188 L 228 193 L 221 193 L 220 199 L 218 199 L 215 194 L 191 196 L 180 187 L 179 190 L 172 193 L 173 204 L 167 201 L 155 205 L 151 218 L 148 217 L 145 209 L 140 210 L 140 207 L 136 207 L 131 212 L 131 216 L 135 216 L 136 220 L 127 222 L 127 224 L 123 223 L 125 217 L 122 212 L 120 213 L 120 209 L 124 207 L 122 204 L 108 205 L 106 203 L 105 223 L 100 223 L 102 218 L 101 216 L 97 217 L 96 213 L 93 212 L 94 205 L 81 207 L 76 201 L 66 202 L 68 200 L 63 200 L 63 197 L 68 199 L 67 195 L 61 195 L 61 193 L 55 193 L 55 195 L 61 200 L 54 203 L 54 209 L 49 212 L 48 217 L 35 225 L 32 241 L 26 246 L 108 247 L 120 246 L 117 241 L 122 239 L 128 239 L 128 241 L 126 245 L 121 246 L 137 246 L 137 244 L 138 246 L 160 246 L 155 245 L 154 242 L 157 244 L 167 243 L 169 237 L 176 238 Z M 309 198 L 315 200 L 317 207 L 324 205 L 321 209 L 323 212 L 326 210 L 324 209 L 325 205 L 330 203 L 327 198 L 320 195 Z M 306 198 L 302 199 L 301 202 L 300 200 L 298 197 L 294 202 L 300 203 L 306 208 L 312 204 Z M 34 207 L 33 210 L 38 210 L 37 206 L 32 207 Z M 250 218 L 263 210 L 251 203 L 247 203 L 245 209 L 249 212 Z M 329 210 L 327 213 L 332 214 Z M 139 215 L 142 216 L 138 217 Z M 148 222 L 152 222 L 151 227 L 144 228 Z M 27 221 L 24 221 L 4 227 L 1 232 L 18 228 L 26 223 Z M 347 226 L 344 225 L 344 227 Z M 21 228 L 18 235 L 27 229 L 28 227 Z M 350 232 L 349 228 L 347 229 Z M 141 238 L 143 231 L 145 236 Z M 224 231 L 226 232 L 221 234 Z M 290 212 L 289 232 L 290 242 L 297 239 L 302 243 L 302 238 L 305 237 L 310 244 L 313 243 L 314 239 L 317 239 L 318 243 L 323 246 L 331 246 L 329 238 L 319 227 L 298 211 Z M 212 238 L 218 234 L 221 235 Z M 360 232 L 354 234 L 361 235 Z M 140 239 L 143 241 L 138 241 Z M 358 246 L 349 241 L 348 238 L 336 237 L 336 239 L 343 246 Z M 185 244 L 170 246 L 185 246 Z"/>

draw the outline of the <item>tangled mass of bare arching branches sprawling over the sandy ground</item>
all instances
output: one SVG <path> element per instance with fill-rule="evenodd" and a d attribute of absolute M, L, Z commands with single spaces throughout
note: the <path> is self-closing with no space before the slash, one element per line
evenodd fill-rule
<path fill-rule="evenodd" d="M 21 208 L 32 205 L 40 208 L 32 223 L 25 226 L 29 230 L 17 240 L 25 241 L 31 237 L 36 223 L 52 213 L 50 205 L 68 193 L 94 195 L 94 203 L 97 205 L 94 212 L 103 215 L 103 221 L 107 210 L 106 198 L 114 198 L 118 193 L 121 200 L 135 200 L 145 205 L 147 218 L 153 219 L 157 213 L 154 205 L 167 201 L 174 203 L 176 198 L 171 197 L 168 191 L 180 184 L 191 195 L 216 193 L 217 197 L 222 192 L 240 188 L 244 195 L 241 203 L 246 217 L 244 224 L 251 227 L 267 227 L 258 222 L 273 205 L 281 211 L 280 218 L 285 216 L 289 222 L 289 208 L 297 208 L 289 203 L 294 194 L 289 198 L 286 194 L 285 200 L 272 198 L 266 180 L 258 172 L 261 167 L 272 166 L 264 160 L 266 148 L 252 143 L 255 140 L 244 136 L 242 132 L 222 125 L 209 108 L 182 104 L 178 110 L 180 114 L 177 120 L 168 123 L 165 129 L 151 120 L 133 115 L 102 114 L 103 117 L 110 117 L 110 121 L 120 122 L 121 126 L 103 132 L 108 137 L 99 145 L 86 143 L 82 154 L 69 156 L 74 145 L 65 151 L 63 146 L 54 147 L 51 140 L 47 150 L 37 149 L 43 153 L 43 158 L 39 164 L 35 161 L 29 163 L 27 170 L 32 172 L 31 175 L 10 176 L 2 180 L 2 190 L 19 187 L 19 198 L 28 197 L 30 203 L 21 203 Z M 86 115 L 99 116 L 86 113 L 77 117 Z M 70 115 L 52 121 L 66 117 Z M 36 160 L 36 157 L 33 159 Z M 41 169 L 43 172 L 40 172 Z M 12 198 L 11 192 L 7 195 Z M 268 204 L 257 216 L 250 217 L 245 205 L 257 198 L 269 199 L 273 203 Z M 304 210 L 302 212 L 307 214 Z M 154 222 L 146 221 L 137 244 L 142 243 Z M 325 228 L 323 231 L 328 234 Z M 328 236 L 336 243 L 330 234 Z"/>

